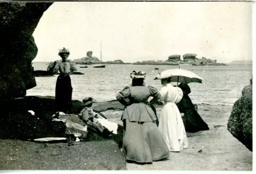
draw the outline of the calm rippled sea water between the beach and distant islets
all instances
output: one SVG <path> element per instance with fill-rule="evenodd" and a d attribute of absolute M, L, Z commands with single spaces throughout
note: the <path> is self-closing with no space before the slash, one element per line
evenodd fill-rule
<path fill-rule="evenodd" d="M 46 70 L 47 62 L 33 62 L 34 70 Z M 80 65 L 84 66 L 84 65 Z M 92 96 L 97 101 L 109 101 L 125 85 L 131 83 L 130 72 L 140 70 L 146 72 L 146 83 L 161 89 L 159 80 L 153 80 L 158 71 L 175 69 L 178 66 L 169 65 L 106 65 L 106 68 L 80 68 L 84 75 L 70 75 L 72 80 L 72 99 L 82 101 Z M 155 70 L 158 67 L 159 70 Z M 250 84 L 252 78 L 251 65 L 232 66 L 186 66 L 181 69 L 192 71 L 204 79 L 203 84 L 190 83 L 189 94 L 193 103 L 207 103 L 212 105 L 233 105 L 242 95 L 242 89 Z M 54 77 L 36 77 L 37 86 L 29 89 L 27 95 L 55 95 L 55 85 L 58 75 Z"/>

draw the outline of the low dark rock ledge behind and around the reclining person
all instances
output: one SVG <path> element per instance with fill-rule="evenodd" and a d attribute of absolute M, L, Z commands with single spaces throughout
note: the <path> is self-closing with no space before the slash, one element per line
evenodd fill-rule
<path fill-rule="evenodd" d="M 84 103 L 78 100 L 72 101 L 72 111 L 71 113 L 79 114 L 84 108 Z M 114 108 L 122 109 L 122 105 L 116 103 L 98 103 L 99 105 L 93 106 L 93 109 L 97 111 L 104 111 Z M 56 112 L 55 109 L 55 97 L 51 96 L 26 96 L 14 99 L 9 102 L 1 102 L 1 117 L 3 118 L 0 122 L 0 138 L 10 138 L 10 139 L 34 139 L 43 137 L 63 137 L 65 136 L 65 126 L 63 123 L 52 122 L 52 115 Z M 28 115 L 28 111 L 32 110 L 35 112 L 35 119 Z M 9 117 L 10 115 L 10 117 Z M 15 125 L 20 125 L 19 127 Z M 116 143 L 122 143 L 122 125 L 118 125 L 118 134 L 114 134 L 111 139 L 116 141 Z M 88 132 L 89 133 L 89 132 Z M 107 140 L 102 138 L 98 134 L 90 132 L 88 135 L 88 141 L 98 141 Z"/>

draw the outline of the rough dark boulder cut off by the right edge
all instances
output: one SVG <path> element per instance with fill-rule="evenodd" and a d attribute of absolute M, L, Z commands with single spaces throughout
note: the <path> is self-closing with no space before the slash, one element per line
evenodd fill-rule
<path fill-rule="evenodd" d="M 242 97 L 234 103 L 228 131 L 252 151 L 252 84 L 244 87 Z"/>

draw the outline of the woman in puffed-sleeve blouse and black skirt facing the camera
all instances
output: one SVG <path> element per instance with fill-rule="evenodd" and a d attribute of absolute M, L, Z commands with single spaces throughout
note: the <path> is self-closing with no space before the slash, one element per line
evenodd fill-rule
<path fill-rule="evenodd" d="M 60 71 L 56 82 L 55 102 L 56 110 L 64 113 L 69 113 L 72 109 L 72 85 L 69 74 L 77 71 L 76 63 L 67 60 L 70 52 L 65 47 L 60 49 L 58 55 L 62 58 L 61 61 L 54 61 L 54 64 L 49 67 L 49 71 L 54 72 L 54 69 Z"/>

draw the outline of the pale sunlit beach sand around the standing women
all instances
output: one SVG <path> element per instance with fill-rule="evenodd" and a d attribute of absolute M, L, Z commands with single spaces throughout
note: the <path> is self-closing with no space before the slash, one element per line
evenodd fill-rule
<path fill-rule="evenodd" d="M 156 110 L 160 115 L 161 108 L 157 107 Z M 210 130 L 187 133 L 188 149 L 179 153 L 171 152 L 168 160 L 145 165 L 127 163 L 127 169 L 251 171 L 252 152 L 227 130 L 231 111 L 230 106 L 198 105 L 198 113 Z M 111 117 L 110 120 L 121 123 L 122 111 L 108 110 L 102 113 Z"/>

